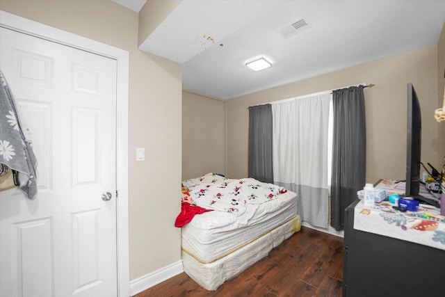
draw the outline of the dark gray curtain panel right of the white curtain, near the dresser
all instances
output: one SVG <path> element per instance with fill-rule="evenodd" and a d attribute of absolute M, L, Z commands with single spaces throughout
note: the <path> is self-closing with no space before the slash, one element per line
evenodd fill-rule
<path fill-rule="evenodd" d="M 332 92 L 331 226 L 344 227 L 345 209 L 365 184 L 366 124 L 363 86 Z"/>

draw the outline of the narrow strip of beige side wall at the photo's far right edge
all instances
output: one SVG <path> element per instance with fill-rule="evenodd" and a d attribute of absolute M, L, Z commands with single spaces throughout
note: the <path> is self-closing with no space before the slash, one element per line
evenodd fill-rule
<path fill-rule="evenodd" d="M 442 27 L 442 33 L 437 43 L 437 86 L 438 86 L 438 104 L 437 109 L 442 108 L 445 98 L 445 24 Z M 437 153 L 437 166 L 444 166 L 445 156 L 445 122 L 439 124 L 439 150 Z M 439 168 L 437 168 L 439 169 Z"/>

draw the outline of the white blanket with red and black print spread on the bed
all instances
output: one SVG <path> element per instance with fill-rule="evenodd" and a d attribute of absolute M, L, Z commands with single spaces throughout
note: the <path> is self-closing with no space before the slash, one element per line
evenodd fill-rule
<path fill-rule="evenodd" d="M 257 179 L 229 179 L 214 173 L 187 179 L 183 186 L 188 188 L 198 207 L 225 211 L 235 216 L 241 216 L 248 204 L 263 204 L 287 192 L 283 187 Z"/>

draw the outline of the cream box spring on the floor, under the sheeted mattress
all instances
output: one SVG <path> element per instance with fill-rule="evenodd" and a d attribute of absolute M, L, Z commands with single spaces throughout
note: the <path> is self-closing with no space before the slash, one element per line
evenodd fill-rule
<path fill-rule="evenodd" d="M 181 251 L 184 272 L 204 289 L 214 291 L 226 280 L 245 271 L 260 259 L 266 257 L 270 250 L 277 247 L 301 227 L 301 218 L 294 216 L 285 223 L 273 228 L 269 232 L 258 236 L 240 248 L 213 262 L 203 263 L 193 257 L 197 252 L 193 250 Z"/>

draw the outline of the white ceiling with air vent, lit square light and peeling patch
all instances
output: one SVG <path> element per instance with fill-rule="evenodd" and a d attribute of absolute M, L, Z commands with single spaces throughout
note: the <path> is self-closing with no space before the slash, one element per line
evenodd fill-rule
<path fill-rule="evenodd" d="M 444 22 L 445 0 L 183 0 L 140 49 L 182 63 L 184 89 L 230 99 L 435 45 Z M 245 67 L 257 56 L 273 66 Z"/>

